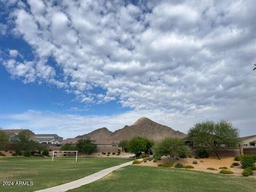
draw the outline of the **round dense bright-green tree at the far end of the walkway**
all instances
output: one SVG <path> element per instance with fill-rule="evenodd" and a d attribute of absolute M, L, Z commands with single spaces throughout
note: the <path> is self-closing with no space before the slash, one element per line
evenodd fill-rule
<path fill-rule="evenodd" d="M 140 152 L 148 153 L 151 150 L 154 142 L 145 137 L 134 137 L 128 143 L 127 149 L 133 154 L 138 154 Z"/>

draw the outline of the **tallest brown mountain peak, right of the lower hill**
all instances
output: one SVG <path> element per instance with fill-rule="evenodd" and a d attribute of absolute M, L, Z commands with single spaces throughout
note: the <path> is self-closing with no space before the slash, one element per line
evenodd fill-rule
<path fill-rule="evenodd" d="M 119 129 L 112 133 L 108 140 L 123 140 L 132 139 L 133 137 L 147 137 L 155 141 L 162 140 L 165 137 L 180 137 L 186 136 L 185 133 L 175 131 L 169 126 L 161 125 L 154 121 L 151 121 L 147 117 L 141 117 L 133 125 L 125 125 L 123 129 Z"/>

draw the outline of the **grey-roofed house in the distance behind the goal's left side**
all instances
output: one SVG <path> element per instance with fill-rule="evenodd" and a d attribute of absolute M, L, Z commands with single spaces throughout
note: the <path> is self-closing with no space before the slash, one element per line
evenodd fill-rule
<path fill-rule="evenodd" d="M 57 134 L 36 134 L 35 139 L 39 143 L 59 145 L 63 138 L 59 137 Z"/>

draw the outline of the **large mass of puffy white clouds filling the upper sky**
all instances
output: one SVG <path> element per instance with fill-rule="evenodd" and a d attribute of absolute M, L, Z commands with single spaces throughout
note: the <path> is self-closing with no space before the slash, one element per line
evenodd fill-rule
<path fill-rule="evenodd" d="M 255 1 L 58 3 L 28 1 L 10 13 L 35 55 L 6 60 L 13 77 L 57 85 L 85 105 L 116 100 L 134 113 L 210 115 L 255 100 Z"/>

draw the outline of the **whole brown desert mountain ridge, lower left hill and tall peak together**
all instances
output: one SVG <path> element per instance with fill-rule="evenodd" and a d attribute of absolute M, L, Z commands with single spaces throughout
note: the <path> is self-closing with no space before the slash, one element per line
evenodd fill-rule
<path fill-rule="evenodd" d="M 95 141 L 121 141 L 124 139 L 130 140 L 133 137 L 147 137 L 154 141 L 159 141 L 165 137 L 184 138 L 186 137 L 186 134 L 180 131 L 175 131 L 169 126 L 156 123 L 147 117 L 141 117 L 132 125 L 125 125 L 122 129 L 118 129 L 114 132 L 109 131 L 106 127 L 102 127 L 90 133 L 78 135 L 73 139 L 69 138 L 63 140 L 62 143 L 75 142 L 80 138 L 86 137 L 90 137 Z"/>

